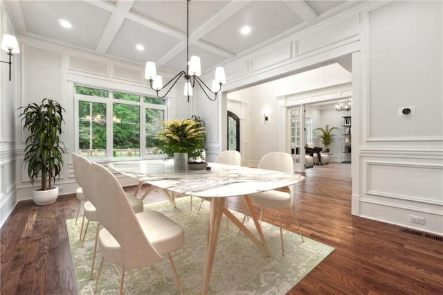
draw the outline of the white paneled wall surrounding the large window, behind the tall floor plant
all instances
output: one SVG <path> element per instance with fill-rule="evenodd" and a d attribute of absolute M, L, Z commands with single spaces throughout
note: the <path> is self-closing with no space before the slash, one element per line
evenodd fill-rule
<path fill-rule="evenodd" d="M 149 90 L 143 78 L 143 66 L 17 37 L 21 53 L 14 56 L 16 60 L 15 69 L 12 69 L 12 82 L 4 75 L 3 66 L 1 74 L 1 224 L 19 200 L 32 198 L 34 190 L 26 169 L 22 168 L 27 134 L 23 132 L 21 122 L 17 118 L 17 107 L 28 105 L 30 102 L 41 102 L 43 98 L 52 98 L 66 109 L 62 134 L 66 145 L 64 166 L 60 180 L 56 181 L 60 195 L 64 195 L 75 193 L 75 188 L 78 187 L 73 177 L 71 160 L 71 153 L 75 152 L 75 84 L 135 91 L 154 96 L 154 91 Z M 21 64 L 21 67 L 17 64 Z M 193 102 L 188 103 L 181 93 L 176 96 L 174 92 L 172 90 L 168 95 L 168 119 L 190 118 Z M 134 179 L 127 177 L 120 177 L 120 181 L 123 184 L 134 183 Z"/>

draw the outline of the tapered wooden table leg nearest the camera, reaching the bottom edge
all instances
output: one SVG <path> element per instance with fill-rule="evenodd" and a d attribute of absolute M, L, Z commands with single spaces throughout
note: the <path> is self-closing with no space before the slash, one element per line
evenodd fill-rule
<path fill-rule="evenodd" d="M 221 216 L 223 215 L 223 208 L 226 198 L 213 198 L 211 200 L 209 213 L 209 227 L 208 227 L 208 244 L 206 244 L 205 252 L 205 267 L 203 274 L 203 291 L 201 294 L 208 294 L 210 275 L 213 271 L 215 248 L 217 247 L 217 240 L 219 238 L 219 229 Z"/>

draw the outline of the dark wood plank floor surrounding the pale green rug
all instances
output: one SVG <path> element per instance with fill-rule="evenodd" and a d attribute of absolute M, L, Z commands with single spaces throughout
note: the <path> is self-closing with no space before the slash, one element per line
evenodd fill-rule
<path fill-rule="evenodd" d="M 315 166 L 305 175 L 296 201 L 302 232 L 336 249 L 289 294 L 443 294 L 442 241 L 350 215 L 349 164 Z M 77 206 L 73 195 L 48 206 L 19 202 L 1 229 L 1 294 L 77 294 L 64 222 Z M 229 206 L 241 211 L 235 199 Z M 283 221 L 296 231 L 291 215 Z"/>

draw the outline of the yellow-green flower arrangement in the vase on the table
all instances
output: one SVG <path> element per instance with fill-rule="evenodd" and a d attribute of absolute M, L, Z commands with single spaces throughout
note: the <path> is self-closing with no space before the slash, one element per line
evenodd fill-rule
<path fill-rule="evenodd" d="M 190 158 L 199 158 L 204 151 L 205 127 L 198 117 L 163 122 L 163 129 L 154 137 L 158 141 L 156 153 L 169 158 L 174 152 L 187 152 Z"/>

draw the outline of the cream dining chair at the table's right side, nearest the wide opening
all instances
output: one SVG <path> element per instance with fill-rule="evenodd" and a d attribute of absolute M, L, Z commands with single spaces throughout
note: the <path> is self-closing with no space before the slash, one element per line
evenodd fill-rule
<path fill-rule="evenodd" d="M 260 160 L 258 168 L 275 170 L 280 172 L 293 173 L 293 158 L 290 154 L 285 152 L 270 152 L 265 154 Z M 292 212 L 296 224 L 298 226 L 298 232 L 303 240 L 302 231 L 300 225 L 298 225 L 298 220 L 296 212 L 293 210 L 293 203 L 295 199 L 295 185 L 284 188 L 284 190 L 269 190 L 262 193 L 255 193 L 249 195 L 251 202 L 253 204 L 260 205 L 260 220 L 262 220 L 263 207 L 275 209 L 278 211 L 278 223 L 280 224 L 280 242 L 282 244 L 282 255 L 284 255 L 284 242 L 283 242 L 283 231 L 282 231 L 282 219 L 280 215 L 280 210 L 289 209 Z"/>

